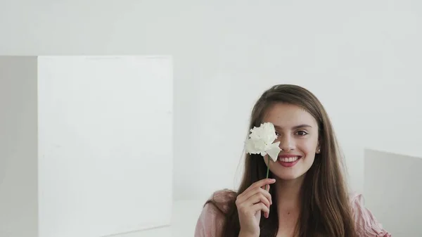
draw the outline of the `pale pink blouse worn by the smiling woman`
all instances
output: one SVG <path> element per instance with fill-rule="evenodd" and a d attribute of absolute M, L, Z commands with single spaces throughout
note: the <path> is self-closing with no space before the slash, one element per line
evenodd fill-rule
<path fill-rule="evenodd" d="M 224 191 L 218 191 L 217 196 L 226 200 L 230 198 Z M 350 196 L 350 203 L 359 237 L 391 237 L 371 211 L 364 207 L 362 194 L 353 193 Z M 195 237 L 221 237 L 219 231 L 222 230 L 223 220 L 224 216 L 217 207 L 211 204 L 205 205 L 196 223 Z"/>

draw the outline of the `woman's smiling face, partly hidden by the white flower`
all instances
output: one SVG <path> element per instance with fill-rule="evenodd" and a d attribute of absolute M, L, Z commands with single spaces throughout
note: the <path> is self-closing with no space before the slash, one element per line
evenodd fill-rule
<path fill-rule="evenodd" d="M 283 180 L 302 177 L 312 166 L 315 153 L 319 153 L 318 124 L 311 114 L 297 105 L 276 103 L 262 122 L 271 122 L 276 128 L 276 141 L 280 141 L 279 158 L 270 159 L 269 169 Z M 267 155 L 264 157 L 267 164 Z M 267 164 L 268 165 L 268 164 Z"/>

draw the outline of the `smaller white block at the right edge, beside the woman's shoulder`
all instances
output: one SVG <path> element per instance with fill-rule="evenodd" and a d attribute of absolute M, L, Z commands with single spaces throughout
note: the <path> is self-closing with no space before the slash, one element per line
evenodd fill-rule
<path fill-rule="evenodd" d="M 422 236 L 422 158 L 365 149 L 366 207 L 393 236 Z"/>

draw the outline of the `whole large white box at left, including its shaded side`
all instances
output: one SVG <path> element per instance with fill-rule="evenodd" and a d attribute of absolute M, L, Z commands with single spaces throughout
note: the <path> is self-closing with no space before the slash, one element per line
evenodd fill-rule
<path fill-rule="evenodd" d="M 172 58 L 0 57 L 0 236 L 170 224 Z"/>

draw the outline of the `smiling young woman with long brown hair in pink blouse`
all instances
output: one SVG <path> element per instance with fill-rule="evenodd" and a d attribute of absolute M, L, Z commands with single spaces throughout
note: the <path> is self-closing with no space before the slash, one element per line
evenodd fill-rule
<path fill-rule="evenodd" d="M 267 157 L 246 154 L 238 191 L 216 191 L 207 200 L 196 237 L 391 236 L 362 196 L 348 193 L 333 127 L 314 94 L 271 87 L 255 104 L 250 129 L 264 122 L 274 124 L 281 148 L 269 161 L 269 179 Z"/>

